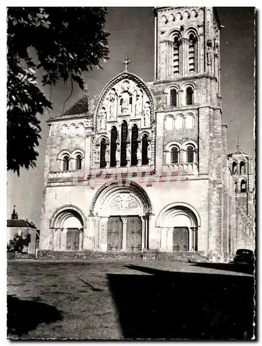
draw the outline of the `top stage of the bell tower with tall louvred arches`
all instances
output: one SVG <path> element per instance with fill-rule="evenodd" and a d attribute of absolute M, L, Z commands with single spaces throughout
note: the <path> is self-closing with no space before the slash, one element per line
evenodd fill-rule
<path fill-rule="evenodd" d="M 155 13 L 155 79 L 199 80 L 201 76 L 209 76 L 214 80 L 212 89 L 220 96 L 221 26 L 216 10 L 157 7 Z"/>

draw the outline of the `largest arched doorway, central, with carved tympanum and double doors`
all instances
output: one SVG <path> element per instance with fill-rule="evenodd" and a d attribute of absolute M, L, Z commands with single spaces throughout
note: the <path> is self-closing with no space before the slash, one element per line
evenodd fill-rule
<path fill-rule="evenodd" d="M 142 251 L 149 247 L 151 202 L 133 181 L 111 181 L 97 191 L 89 219 L 97 251 Z"/>

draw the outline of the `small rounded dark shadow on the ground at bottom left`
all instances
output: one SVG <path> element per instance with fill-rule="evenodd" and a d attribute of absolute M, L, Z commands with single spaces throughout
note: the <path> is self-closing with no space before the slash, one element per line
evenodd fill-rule
<path fill-rule="evenodd" d="M 28 334 L 36 329 L 40 323 L 51 323 L 62 320 L 61 313 L 43 302 L 20 300 L 8 295 L 8 338 L 15 338 Z"/>

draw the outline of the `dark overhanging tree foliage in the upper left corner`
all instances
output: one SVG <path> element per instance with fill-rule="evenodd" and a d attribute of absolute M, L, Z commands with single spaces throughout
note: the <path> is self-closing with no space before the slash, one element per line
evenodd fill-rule
<path fill-rule="evenodd" d="M 109 34 L 104 31 L 104 8 L 8 8 L 7 158 L 8 170 L 35 166 L 39 145 L 37 113 L 52 108 L 39 90 L 59 78 L 70 78 L 84 89 L 83 71 L 108 59 Z M 34 48 L 37 62 L 28 48 Z"/>

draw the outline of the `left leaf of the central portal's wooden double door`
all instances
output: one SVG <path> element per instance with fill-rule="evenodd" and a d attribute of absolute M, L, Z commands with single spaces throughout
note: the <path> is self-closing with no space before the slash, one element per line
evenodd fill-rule
<path fill-rule="evenodd" d="M 107 250 L 120 251 L 122 249 L 122 221 L 120 217 L 109 217 L 107 224 Z"/>

